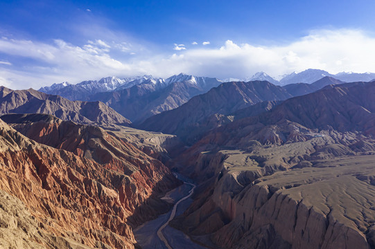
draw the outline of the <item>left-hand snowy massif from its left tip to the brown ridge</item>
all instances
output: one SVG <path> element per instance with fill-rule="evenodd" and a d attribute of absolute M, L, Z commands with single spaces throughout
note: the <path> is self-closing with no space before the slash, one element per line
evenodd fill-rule
<path fill-rule="evenodd" d="M 40 90 L 69 100 L 105 102 L 126 118 L 141 122 L 162 111 L 180 107 L 193 96 L 206 93 L 219 84 L 221 82 L 216 78 L 180 73 L 167 79 L 151 75 L 123 80 L 107 77 L 79 84 L 55 84 Z"/>

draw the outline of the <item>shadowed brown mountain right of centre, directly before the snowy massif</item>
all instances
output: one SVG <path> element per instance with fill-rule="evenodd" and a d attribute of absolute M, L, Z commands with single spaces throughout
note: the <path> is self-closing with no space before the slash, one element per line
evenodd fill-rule
<path fill-rule="evenodd" d="M 291 95 L 269 82 L 227 82 L 195 96 L 181 107 L 148 118 L 141 129 L 177 134 L 182 138 L 191 127 L 214 114 L 229 114 L 265 100 L 286 100 Z"/>

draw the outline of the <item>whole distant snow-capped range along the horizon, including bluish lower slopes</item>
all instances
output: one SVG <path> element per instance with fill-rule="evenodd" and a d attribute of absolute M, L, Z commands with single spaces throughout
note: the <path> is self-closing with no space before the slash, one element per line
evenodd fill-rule
<path fill-rule="evenodd" d="M 301 73 L 286 75 L 280 82 L 263 72 L 256 73 L 243 81 L 259 80 L 268 81 L 272 84 L 298 84 L 287 88 L 293 92 L 292 95 L 296 95 L 297 93 L 306 94 L 320 89 L 320 86 L 308 86 L 307 84 L 316 82 L 325 76 L 334 77 L 334 79 L 338 79 L 338 77 L 348 80 L 356 79 L 357 81 L 375 78 L 375 74 L 372 73 L 331 75 L 326 71 L 308 69 Z M 167 79 L 143 75 L 142 77 L 126 79 L 106 77 L 99 81 L 89 80 L 79 84 L 64 82 L 43 87 L 40 91 L 60 95 L 69 100 L 101 101 L 121 113 L 125 118 L 139 124 L 157 113 L 180 107 L 195 95 L 206 93 L 222 82 L 216 78 L 196 77 L 180 73 L 180 75 L 173 75 Z M 299 83 L 304 83 L 304 85 Z"/>

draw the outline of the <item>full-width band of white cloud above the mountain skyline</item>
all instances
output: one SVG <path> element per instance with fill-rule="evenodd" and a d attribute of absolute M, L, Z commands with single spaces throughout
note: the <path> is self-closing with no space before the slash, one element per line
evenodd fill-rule
<path fill-rule="evenodd" d="M 13 62 L 17 67 L 0 67 L 1 84 L 13 89 L 30 86 L 37 89 L 66 80 L 74 84 L 107 75 L 125 77 L 146 73 L 157 77 L 184 72 L 242 78 L 257 71 L 276 76 L 306 68 L 321 68 L 329 73 L 375 72 L 375 37 L 361 30 L 313 30 L 294 42 L 277 46 L 237 44 L 227 40 L 219 47 L 195 46 L 188 50 L 184 44 L 175 44 L 179 53 L 173 55 L 158 52 L 150 44 L 134 44 L 133 40 L 130 45 L 112 40 L 111 35 L 105 37 L 82 46 L 62 39 L 46 44 L 1 38 L 0 53 L 6 54 L 11 62 L 21 58 Z M 26 64 L 30 59 L 22 58 L 30 58 L 32 63 Z M 23 61 L 25 64 L 18 66 Z"/>

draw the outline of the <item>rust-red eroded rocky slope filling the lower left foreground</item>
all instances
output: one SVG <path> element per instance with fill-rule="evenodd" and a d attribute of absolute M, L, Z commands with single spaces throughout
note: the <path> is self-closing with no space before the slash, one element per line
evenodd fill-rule
<path fill-rule="evenodd" d="M 156 197 L 175 177 L 125 140 L 48 115 L 4 119 L 33 140 L 0 121 L 2 246 L 134 248 L 132 226 L 168 207 Z"/>

